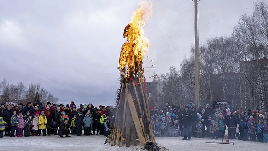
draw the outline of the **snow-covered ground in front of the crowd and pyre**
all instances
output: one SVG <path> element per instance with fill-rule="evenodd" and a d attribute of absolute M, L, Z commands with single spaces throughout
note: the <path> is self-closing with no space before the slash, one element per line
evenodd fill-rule
<path fill-rule="evenodd" d="M 267 143 L 230 140 L 235 145 L 230 144 L 209 144 L 213 142 L 211 138 L 192 138 L 191 141 L 181 140 L 182 137 L 156 137 L 156 143 L 165 146 L 171 151 L 196 150 L 198 151 L 228 151 L 228 150 L 267 150 Z M 81 150 L 81 146 L 87 151 L 139 151 L 145 150 L 143 146 L 131 146 L 129 148 L 113 146 L 108 143 L 104 145 L 106 137 L 100 135 L 72 136 L 70 138 L 59 138 L 59 136 L 40 137 L 4 137 L 0 138 L 0 150 L 2 151 L 37 151 L 37 150 Z M 225 140 L 223 140 L 225 142 Z M 215 140 L 222 142 L 222 139 Z"/>

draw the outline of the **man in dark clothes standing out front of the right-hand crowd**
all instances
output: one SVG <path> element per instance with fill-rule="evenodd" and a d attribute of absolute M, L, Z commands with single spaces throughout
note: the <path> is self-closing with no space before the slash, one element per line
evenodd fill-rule
<path fill-rule="evenodd" d="M 191 140 L 191 137 L 192 137 L 192 133 L 191 133 L 192 123 L 191 122 L 192 122 L 191 111 L 189 110 L 188 106 L 185 106 L 185 110 L 183 112 L 183 117 L 182 117 L 182 127 L 183 127 L 183 135 L 184 135 L 182 140 Z"/>

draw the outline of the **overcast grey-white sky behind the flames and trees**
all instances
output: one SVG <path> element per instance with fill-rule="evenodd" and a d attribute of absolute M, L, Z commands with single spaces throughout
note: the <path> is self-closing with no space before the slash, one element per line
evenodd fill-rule
<path fill-rule="evenodd" d="M 230 35 L 253 0 L 200 0 L 199 43 Z M 118 59 L 132 1 L 1 1 L 0 80 L 40 82 L 60 102 L 114 105 Z M 145 26 L 150 49 L 145 76 L 179 68 L 194 43 L 194 2 L 154 0 Z M 153 61 L 151 61 L 153 60 Z"/>

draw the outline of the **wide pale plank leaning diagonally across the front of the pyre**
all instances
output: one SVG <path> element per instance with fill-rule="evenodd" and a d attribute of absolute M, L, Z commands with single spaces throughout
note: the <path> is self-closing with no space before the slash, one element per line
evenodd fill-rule
<path fill-rule="evenodd" d="M 145 141 L 145 137 L 143 136 L 143 133 L 142 133 L 142 126 L 139 122 L 139 117 L 138 117 L 138 114 L 137 114 L 137 111 L 136 111 L 136 108 L 135 108 L 135 105 L 133 102 L 133 98 L 132 98 L 130 93 L 127 94 L 127 101 L 129 103 L 129 109 L 130 109 L 130 112 L 132 115 L 132 119 L 133 119 L 133 122 L 135 125 L 137 135 L 139 137 L 140 145 L 145 145 L 146 141 Z"/>

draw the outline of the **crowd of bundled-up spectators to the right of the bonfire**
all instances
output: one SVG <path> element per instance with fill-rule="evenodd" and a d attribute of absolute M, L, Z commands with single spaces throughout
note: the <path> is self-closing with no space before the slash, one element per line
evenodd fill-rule
<path fill-rule="evenodd" d="M 191 137 L 224 138 L 228 130 L 229 139 L 250 140 L 268 143 L 268 111 L 254 108 L 245 111 L 206 104 L 196 109 L 191 101 L 186 106 L 171 108 L 150 107 L 150 116 L 156 137 L 178 137 L 191 140 Z"/>

